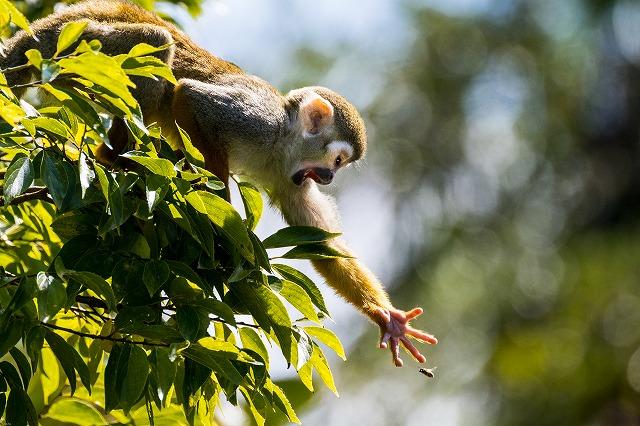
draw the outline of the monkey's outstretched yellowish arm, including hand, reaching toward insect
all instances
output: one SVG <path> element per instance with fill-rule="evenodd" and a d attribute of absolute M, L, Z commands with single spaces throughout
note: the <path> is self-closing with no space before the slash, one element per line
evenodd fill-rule
<path fill-rule="evenodd" d="M 279 197 L 277 201 L 285 219 L 291 225 L 309 225 L 334 232 L 338 230 L 336 208 L 332 200 L 322 194 L 313 183 L 297 191 L 291 191 Z M 339 238 L 332 240 L 330 244 L 346 254 L 351 254 L 349 248 Z M 429 344 L 438 343 L 432 335 L 409 325 L 409 321 L 422 314 L 422 308 L 414 308 L 408 312 L 394 308 L 382 283 L 356 258 L 312 262 L 316 270 L 340 296 L 378 324 L 380 348 L 390 348 L 396 366 L 402 366 L 399 354 L 400 344 L 418 362 L 425 361 L 425 357 L 409 340 L 409 337 L 412 337 Z"/>

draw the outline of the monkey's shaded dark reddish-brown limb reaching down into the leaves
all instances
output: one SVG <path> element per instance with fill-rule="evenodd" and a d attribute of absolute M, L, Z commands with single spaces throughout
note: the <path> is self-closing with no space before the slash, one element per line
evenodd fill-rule
<path fill-rule="evenodd" d="M 185 83 L 180 81 L 173 91 L 173 102 L 171 104 L 173 119 L 189 134 L 193 145 L 202 153 L 205 168 L 216 175 L 228 187 L 229 159 L 224 142 L 219 135 L 212 135 L 202 131 L 196 120 L 193 99 L 191 99 L 185 87 Z M 229 198 L 228 188 L 227 198 Z"/>

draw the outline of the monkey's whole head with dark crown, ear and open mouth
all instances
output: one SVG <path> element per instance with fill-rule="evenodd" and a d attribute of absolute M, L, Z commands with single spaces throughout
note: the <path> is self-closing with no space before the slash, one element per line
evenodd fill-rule
<path fill-rule="evenodd" d="M 356 108 L 339 94 L 324 87 L 305 87 L 286 95 L 294 132 L 291 180 L 302 185 L 307 179 L 327 185 L 342 167 L 364 155 L 367 134 Z"/>

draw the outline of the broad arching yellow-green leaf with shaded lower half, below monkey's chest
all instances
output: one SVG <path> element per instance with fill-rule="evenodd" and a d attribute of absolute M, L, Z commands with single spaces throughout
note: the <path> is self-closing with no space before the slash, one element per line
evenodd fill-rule
<path fill-rule="evenodd" d="M 206 214 L 211 222 L 234 243 L 240 254 L 253 262 L 253 246 L 247 228 L 231 204 L 205 191 L 190 192 L 185 199 L 197 211 Z"/>

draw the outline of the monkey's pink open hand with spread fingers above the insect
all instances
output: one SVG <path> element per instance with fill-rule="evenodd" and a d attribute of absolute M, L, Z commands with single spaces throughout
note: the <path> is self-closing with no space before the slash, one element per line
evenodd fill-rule
<path fill-rule="evenodd" d="M 378 308 L 375 313 L 375 321 L 380 326 L 380 348 L 386 349 L 388 347 L 391 350 L 393 363 L 396 367 L 402 367 L 400 344 L 402 344 L 418 362 L 422 363 L 426 361 L 424 355 L 411 343 L 409 337 L 430 345 L 438 343 L 438 339 L 431 334 L 416 330 L 409 325 L 409 321 L 422 315 L 422 312 L 422 308 L 413 308 L 408 312 L 395 308 Z"/>

